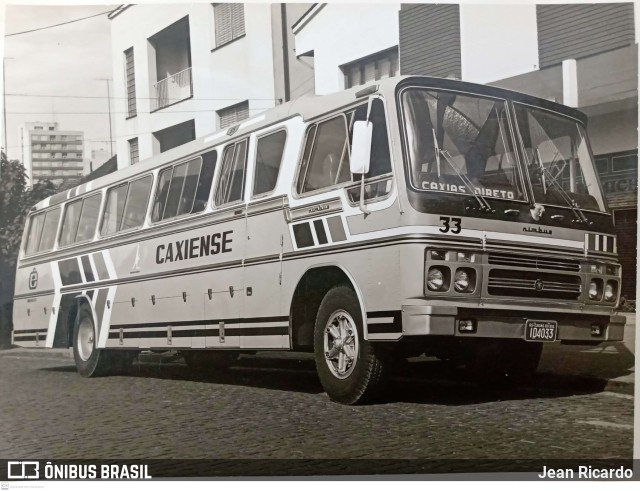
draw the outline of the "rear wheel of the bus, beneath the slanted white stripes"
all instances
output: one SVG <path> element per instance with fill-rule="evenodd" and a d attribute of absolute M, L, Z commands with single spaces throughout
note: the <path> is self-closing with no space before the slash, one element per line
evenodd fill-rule
<path fill-rule="evenodd" d="M 87 304 L 78 308 L 73 328 L 73 358 L 78 373 L 83 377 L 107 375 L 112 365 L 109 352 L 98 349 L 93 313 Z"/>

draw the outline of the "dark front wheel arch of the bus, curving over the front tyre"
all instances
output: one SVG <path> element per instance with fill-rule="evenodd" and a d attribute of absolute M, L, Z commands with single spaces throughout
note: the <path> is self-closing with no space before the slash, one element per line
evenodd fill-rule
<path fill-rule="evenodd" d="M 362 293 L 353 276 L 335 264 L 313 266 L 298 280 L 289 304 L 294 349 L 313 351 L 313 333 L 320 303 L 329 290 L 340 285 L 354 291 L 360 303 L 363 319 L 366 319 Z"/>

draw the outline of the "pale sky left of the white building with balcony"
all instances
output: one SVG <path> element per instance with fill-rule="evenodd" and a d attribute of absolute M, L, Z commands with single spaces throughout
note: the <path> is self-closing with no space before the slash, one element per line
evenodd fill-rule
<path fill-rule="evenodd" d="M 10 159 L 21 159 L 18 127 L 33 121 L 56 121 L 61 130 L 84 131 L 85 157 L 91 156 L 91 150 L 109 150 L 104 79 L 111 78 L 112 62 L 107 15 L 32 33 L 10 34 L 107 12 L 116 6 L 5 6 L 6 147 Z M 112 131 L 115 136 L 115 127 Z M 2 146 L 5 147 L 4 130 Z"/>

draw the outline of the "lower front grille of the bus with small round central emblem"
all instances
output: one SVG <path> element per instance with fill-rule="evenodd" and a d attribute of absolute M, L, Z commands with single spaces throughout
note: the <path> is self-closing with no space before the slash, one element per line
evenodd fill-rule
<path fill-rule="evenodd" d="M 582 291 L 579 276 L 493 269 L 487 285 L 489 295 L 578 300 Z"/>

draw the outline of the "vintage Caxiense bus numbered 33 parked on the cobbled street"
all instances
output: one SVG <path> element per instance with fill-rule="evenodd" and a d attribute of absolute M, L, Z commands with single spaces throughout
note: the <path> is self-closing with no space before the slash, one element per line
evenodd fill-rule
<path fill-rule="evenodd" d="M 313 352 L 354 404 L 401 357 L 520 377 L 544 343 L 621 340 L 586 125 L 425 77 L 277 106 L 34 206 L 14 343 L 73 347 L 87 377 L 141 350 Z"/>

